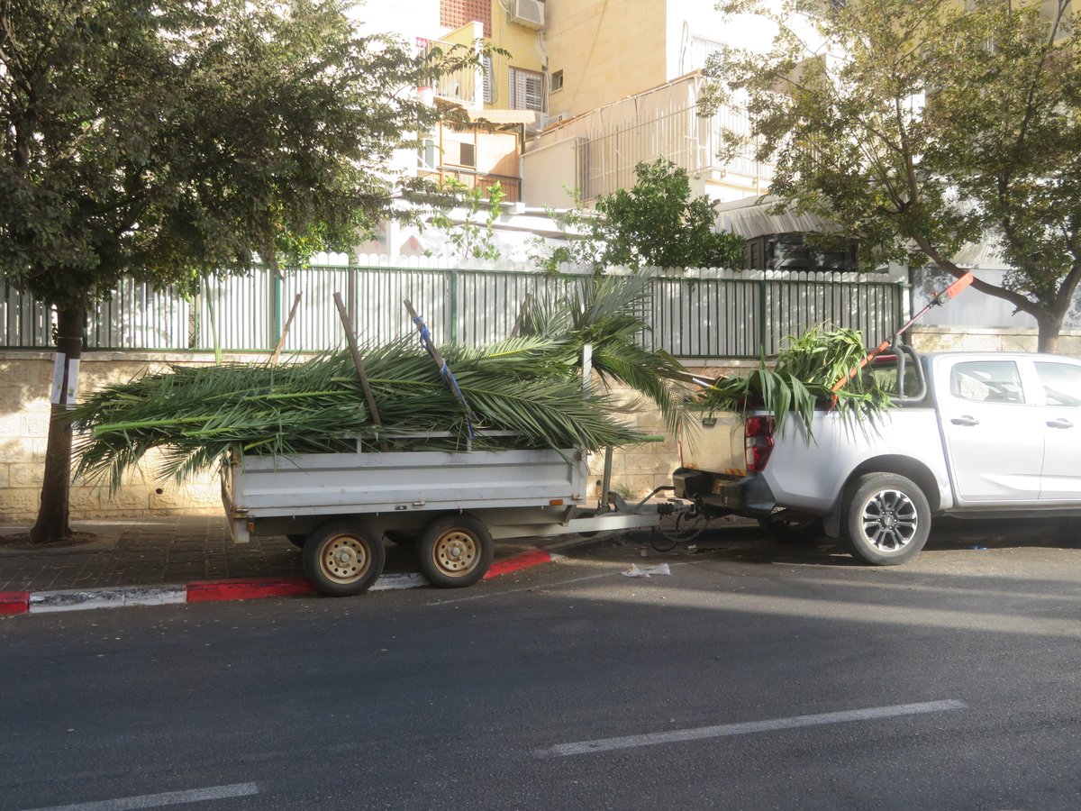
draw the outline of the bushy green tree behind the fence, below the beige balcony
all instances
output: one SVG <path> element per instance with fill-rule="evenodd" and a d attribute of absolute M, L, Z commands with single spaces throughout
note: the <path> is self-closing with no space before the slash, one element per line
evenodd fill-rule
<path fill-rule="evenodd" d="M 717 201 L 706 195 L 691 199 L 686 170 L 658 158 L 638 163 L 635 175 L 632 188 L 598 198 L 593 213 L 583 212 L 575 195 L 575 208 L 557 218 L 570 243 L 542 257 L 542 264 L 551 269 L 560 262 L 632 268 L 744 266 L 743 239 L 713 230 Z"/>

